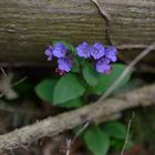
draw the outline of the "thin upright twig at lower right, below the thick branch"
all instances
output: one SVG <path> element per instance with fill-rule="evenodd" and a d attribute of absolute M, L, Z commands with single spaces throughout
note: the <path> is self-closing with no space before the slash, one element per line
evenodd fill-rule
<path fill-rule="evenodd" d="M 127 142 L 128 142 L 128 135 L 130 135 L 131 125 L 132 125 L 132 122 L 133 122 L 134 116 L 135 116 L 135 113 L 133 112 L 133 115 L 132 115 L 132 117 L 131 117 L 130 121 L 128 121 L 127 133 L 126 133 L 126 137 L 125 137 L 125 142 L 124 142 L 124 145 L 123 145 L 123 148 L 122 148 L 121 155 L 124 154 L 124 151 L 125 151 L 126 144 L 127 144 Z"/>

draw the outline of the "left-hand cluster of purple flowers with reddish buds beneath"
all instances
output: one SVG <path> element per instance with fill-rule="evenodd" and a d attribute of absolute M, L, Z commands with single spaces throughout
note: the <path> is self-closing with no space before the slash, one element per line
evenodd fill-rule
<path fill-rule="evenodd" d="M 44 53 L 48 56 L 48 61 L 52 61 L 53 58 L 56 58 L 58 68 L 55 72 L 63 75 L 65 72 L 71 71 L 73 62 L 68 49 L 62 43 L 58 42 L 53 46 L 49 45 Z"/>

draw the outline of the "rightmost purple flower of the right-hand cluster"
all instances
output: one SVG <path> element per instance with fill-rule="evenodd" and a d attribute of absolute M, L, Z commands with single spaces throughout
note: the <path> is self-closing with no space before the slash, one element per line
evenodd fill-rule
<path fill-rule="evenodd" d="M 117 60 L 116 54 L 117 54 L 117 50 L 115 46 L 113 45 L 106 46 L 105 58 L 110 59 L 112 62 L 115 62 Z"/>

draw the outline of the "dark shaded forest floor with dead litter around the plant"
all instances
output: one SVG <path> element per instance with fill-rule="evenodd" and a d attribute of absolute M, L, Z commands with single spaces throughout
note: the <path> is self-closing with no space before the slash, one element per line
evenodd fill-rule
<path fill-rule="evenodd" d="M 8 133 L 16 128 L 32 124 L 35 121 L 48 116 L 54 116 L 65 112 L 65 108 L 53 106 L 41 101 L 34 93 L 34 86 L 44 78 L 52 73 L 50 68 L 4 68 L 7 76 L 1 73 L 0 90 L 10 87 L 0 97 L 0 134 Z M 13 87 L 11 83 L 17 83 Z M 155 82 L 155 70 L 134 71 L 132 81 L 122 92 L 132 91 Z M 155 106 L 136 107 L 126 110 L 122 113 L 118 122 L 126 127 L 132 113 L 135 113 L 130 130 L 132 145 L 125 151 L 124 155 L 154 155 L 155 154 Z M 8 154 L 12 155 L 65 155 L 66 140 L 74 138 L 72 131 L 65 131 L 54 137 L 44 137 L 29 146 L 14 148 Z M 121 154 L 122 144 L 110 147 L 108 155 Z M 118 146 L 118 147 L 117 147 Z M 71 155 L 89 155 L 80 137 L 71 148 Z"/>

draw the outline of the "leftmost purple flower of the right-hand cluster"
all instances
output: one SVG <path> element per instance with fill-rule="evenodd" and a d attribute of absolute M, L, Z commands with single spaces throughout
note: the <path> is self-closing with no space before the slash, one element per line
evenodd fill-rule
<path fill-rule="evenodd" d="M 86 58 L 90 58 L 90 55 L 91 55 L 91 46 L 86 42 L 81 43 L 76 48 L 76 51 L 78 51 L 78 55 L 81 58 L 86 59 Z"/>

